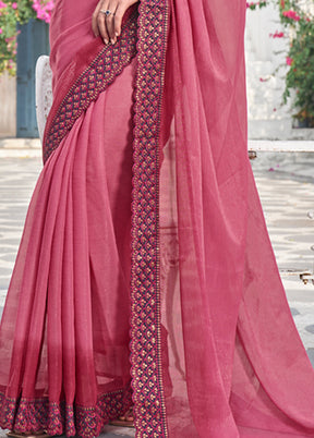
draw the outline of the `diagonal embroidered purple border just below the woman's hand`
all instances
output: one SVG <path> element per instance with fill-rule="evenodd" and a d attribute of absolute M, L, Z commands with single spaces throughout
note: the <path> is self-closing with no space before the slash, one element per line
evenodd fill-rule
<path fill-rule="evenodd" d="M 122 73 L 136 54 L 137 11 L 125 23 L 116 45 L 104 49 L 71 86 L 45 131 L 44 162 L 60 145 L 93 100 Z M 52 109 L 53 110 L 53 109 Z"/>

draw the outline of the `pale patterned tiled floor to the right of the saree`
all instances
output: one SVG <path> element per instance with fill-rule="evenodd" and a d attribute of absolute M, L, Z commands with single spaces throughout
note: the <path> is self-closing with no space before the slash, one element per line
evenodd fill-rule
<path fill-rule="evenodd" d="M 253 170 L 295 325 L 314 365 L 314 154 L 259 154 Z"/>

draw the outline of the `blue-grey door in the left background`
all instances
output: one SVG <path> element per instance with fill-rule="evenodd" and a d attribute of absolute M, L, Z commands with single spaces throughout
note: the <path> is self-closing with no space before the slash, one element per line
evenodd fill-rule
<path fill-rule="evenodd" d="M 38 137 L 35 109 L 35 64 L 40 54 L 49 54 L 49 26 L 38 20 L 19 26 L 17 37 L 17 137 Z"/>

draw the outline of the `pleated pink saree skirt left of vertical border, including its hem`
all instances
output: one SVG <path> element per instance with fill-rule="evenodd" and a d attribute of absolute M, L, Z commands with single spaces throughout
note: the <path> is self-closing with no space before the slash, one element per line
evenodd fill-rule
<path fill-rule="evenodd" d="M 89 106 L 39 177 L 15 272 L 27 268 L 19 285 L 13 275 L 1 321 L 1 354 L 13 340 L 3 404 L 15 404 L 3 427 L 98 435 L 130 405 L 131 110 L 117 89 L 132 101 L 133 71 Z M 111 111 L 125 126 L 114 139 L 96 129 Z"/>

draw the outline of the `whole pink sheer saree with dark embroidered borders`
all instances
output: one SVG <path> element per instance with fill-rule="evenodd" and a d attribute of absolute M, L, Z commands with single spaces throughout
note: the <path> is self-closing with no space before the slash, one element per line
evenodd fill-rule
<path fill-rule="evenodd" d="M 246 150 L 242 0 L 142 0 L 114 46 L 58 0 L 45 166 L 0 330 L 0 425 L 314 437 Z M 73 13 L 75 11 L 75 13 Z"/>

